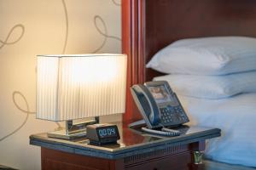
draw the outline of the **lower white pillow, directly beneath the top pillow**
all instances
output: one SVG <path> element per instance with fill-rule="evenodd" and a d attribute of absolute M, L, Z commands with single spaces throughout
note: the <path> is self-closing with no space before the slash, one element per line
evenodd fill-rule
<path fill-rule="evenodd" d="M 166 80 L 174 92 L 205 99 L 227 98 L 235 94 L 256 92 L 256 71 L 226 76 L 167 75 L 154 77 Z"/>

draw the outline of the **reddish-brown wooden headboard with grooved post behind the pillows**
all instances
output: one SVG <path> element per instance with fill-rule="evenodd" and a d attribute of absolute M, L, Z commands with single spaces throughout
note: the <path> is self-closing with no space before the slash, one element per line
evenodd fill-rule
<path fill-rule="evenodd" d="M 160 48 L 182 38 L 212 36 L 256 37 L 256 1 L 123 0 L 122 48 L 128 54 L 124 122 L 141 118 L 129 88 L 160 75 L 145 68 Z"/>

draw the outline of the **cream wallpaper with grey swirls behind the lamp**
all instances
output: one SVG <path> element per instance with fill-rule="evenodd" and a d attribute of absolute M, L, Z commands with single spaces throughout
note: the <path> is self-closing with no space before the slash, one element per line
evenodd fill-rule
<path fill-rule="evenodd" d="M 120 53 L 120 0 L 0 0 L 0 164 L 40 169 L 36 55 Z M 120 115 L 102 117 L 119 120 Z"/>

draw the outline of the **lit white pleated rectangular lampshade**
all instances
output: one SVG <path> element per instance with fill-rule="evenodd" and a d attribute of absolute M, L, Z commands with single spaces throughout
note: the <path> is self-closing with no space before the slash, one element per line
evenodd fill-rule
<path fill-rule="evenodd" d="M 125 112 L 125 54 L 38 55 L 37 118 Z"/>

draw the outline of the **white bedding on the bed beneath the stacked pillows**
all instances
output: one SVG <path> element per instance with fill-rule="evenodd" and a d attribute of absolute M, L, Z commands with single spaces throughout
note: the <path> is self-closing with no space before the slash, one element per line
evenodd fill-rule
<path fill-rule="evenodd" d="M 178 98 L 190 124 L 222 130 L 220 138 L 207 141 L 207 158 L 256 167 L 256 94 L 228 99 Z"/>

